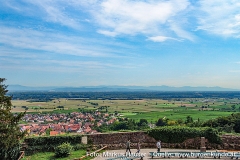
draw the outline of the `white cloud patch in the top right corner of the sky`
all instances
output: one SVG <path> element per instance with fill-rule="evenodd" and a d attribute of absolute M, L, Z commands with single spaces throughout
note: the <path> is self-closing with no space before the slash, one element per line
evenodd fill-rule
<path fill-rule="evenodd" d="M 199 1 L 198 29 L 240 38 L 240 2 L 238 0 Z"/>

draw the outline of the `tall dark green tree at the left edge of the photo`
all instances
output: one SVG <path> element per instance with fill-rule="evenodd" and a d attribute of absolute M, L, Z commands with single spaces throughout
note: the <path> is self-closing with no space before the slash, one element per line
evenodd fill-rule
<path fill-rule="evenodd" d="M 20 141 L 25 136 L 18 126 L 24 113 L 11 113 L 12 97 L 6 95 L 8 90 L 4 81 L 5 78 L 0 78 L 0 159 L 15 160 L 20 153 Z"/>

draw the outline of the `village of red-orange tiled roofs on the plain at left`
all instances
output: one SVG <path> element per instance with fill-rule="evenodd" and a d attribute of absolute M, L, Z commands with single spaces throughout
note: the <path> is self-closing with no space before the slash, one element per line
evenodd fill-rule
<path fill-rule="evenodd" d="M 94 128 L 109 125 L 117 120 L 114 114 L 92 113 L 39 113 L 25 114 L 22 118 L 27 124 L 20 124 L 22 131 L 29 136 L 55 136 L 60 134 L 96 134 Z"/>

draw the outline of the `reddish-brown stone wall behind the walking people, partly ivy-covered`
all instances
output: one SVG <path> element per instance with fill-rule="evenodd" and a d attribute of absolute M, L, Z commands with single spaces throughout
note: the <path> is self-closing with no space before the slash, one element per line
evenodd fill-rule
<path fill-rule="evenodd" d="M 102 133 L 88 135 L 88 142 L 97 147 L 108 146 L 108 149 L 125 149 L 127 140 L 130 139 L 132 148 L 141 142 L 141 148 L 156 148 L 156 140 L 145 132 Z M 224 135 L 222 144 L 211 144 L 206 140 L 207 149 L 240 150 L 240 136 Z M 200 149 L 201 139 L 193 138 L 183 143 L 162 143 L 163 148 Z"/>

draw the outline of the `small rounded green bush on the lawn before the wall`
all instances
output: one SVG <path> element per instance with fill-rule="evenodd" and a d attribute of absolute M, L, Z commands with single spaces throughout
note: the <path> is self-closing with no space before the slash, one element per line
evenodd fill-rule
<path fill-rule="evenodd" d="M 70 143 L 63 143 L 55 148 L 56 157 L 67 157 L 70 155 L 73 147 Z"/>

